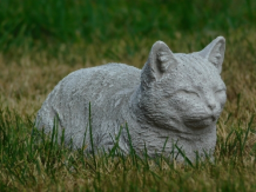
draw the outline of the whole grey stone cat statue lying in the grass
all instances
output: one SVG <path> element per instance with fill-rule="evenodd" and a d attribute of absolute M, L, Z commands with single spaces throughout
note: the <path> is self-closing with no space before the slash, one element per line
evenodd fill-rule
<path fill-rule="evenodd" d="M 87 129 L 90 102 L 95 149 L 110 150 L 120 126 L 127 122 L 138 154 L 146 146 L 147 154 L 155 157 L 165 144 L 165 155 L 173 154 L 177 161 L 184 160 L 178 148 L 190 160 L 196 153 L 211 155 L 216 146 L 216 123 L 226 102 L 220 76 L 224 52 L 222 36 L 191 54 L 173 53 L 157 41 L 142 70 L 122 63 L 77 70 L 48 95 L 35 126 L 50 133 L 55 119 L 59 133 L 65 128 L 66 144 L 72 138 L 79 148 L 85 139 L 86 152 L 91 152 Z M 119 147 L 124 153 L 129 153 L 129 141 L 127 129 L 122 129 Z"/>

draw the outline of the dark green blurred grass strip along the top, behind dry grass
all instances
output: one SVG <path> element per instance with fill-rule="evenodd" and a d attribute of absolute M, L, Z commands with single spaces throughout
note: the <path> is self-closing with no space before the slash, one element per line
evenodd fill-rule
<path fill-rule="evenodd" d="M 251 0 L 2 0 L 0 48 L 174 38 L 176 32 L 228 35 L 237 28 L 255 28 L 255 10 Z"/>

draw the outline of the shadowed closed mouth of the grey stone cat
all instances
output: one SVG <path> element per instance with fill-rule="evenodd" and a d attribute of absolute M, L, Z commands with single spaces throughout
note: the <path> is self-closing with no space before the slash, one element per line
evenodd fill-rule
<path fill-rule="evenodd" d="M 203 118 L 189 118 L 184 120 L 184 124 L 189 128 L 203 129 L 211 124 L 215 124 L 216 119 L 217 118 L 214 115 L 203 117 Z"/>

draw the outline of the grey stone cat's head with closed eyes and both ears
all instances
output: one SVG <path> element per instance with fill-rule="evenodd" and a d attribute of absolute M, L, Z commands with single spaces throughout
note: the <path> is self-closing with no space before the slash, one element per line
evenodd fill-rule
<path fill-rule="evenodd" d="M 180 131 L 216 125 L 226 102 L 224 52 L 221 36 L 191 54 L 174 54 L 157 41 L 141 71 L 139 107 L 148 122 Z"/>

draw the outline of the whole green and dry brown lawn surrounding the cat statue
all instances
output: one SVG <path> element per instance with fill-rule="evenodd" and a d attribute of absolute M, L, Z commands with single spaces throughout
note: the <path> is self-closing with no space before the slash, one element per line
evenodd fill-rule
<path fill-rule="evenodd" d="M 256 190 L 255 1 L 188 2 L 0 1 L 1 191 Z M 141 68 L 158 39 L 188 53 L 218 35 L 227 102 L 214 162 L 125 157 L 117 144 L 84 156 L 87 142 L 72 151 L 54 139 L 63 133 L 31 136 L 37 110 L 70 72 L 111 61 Z"/>

